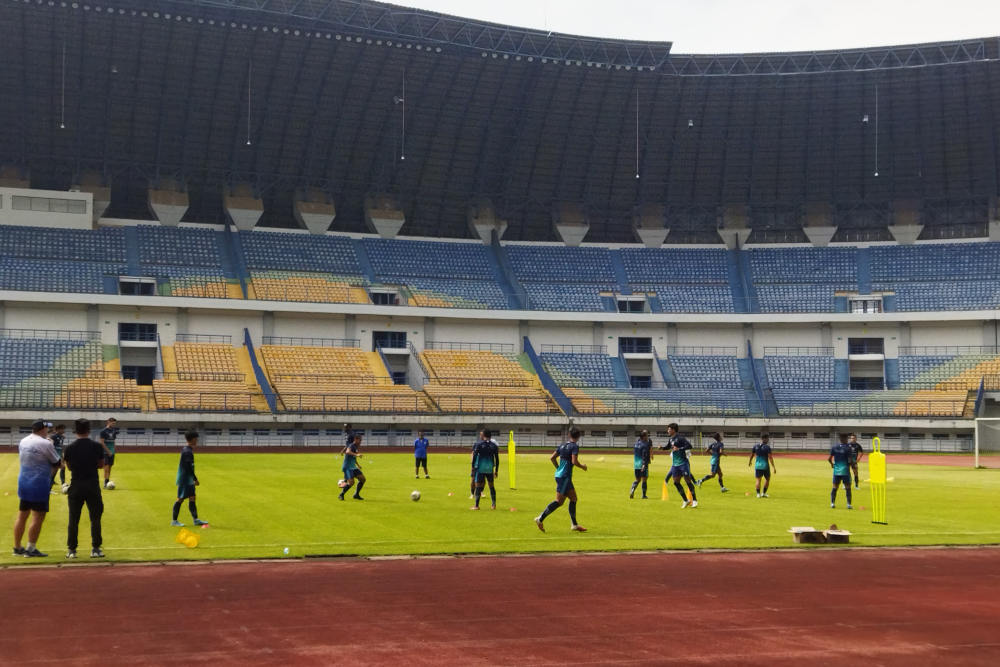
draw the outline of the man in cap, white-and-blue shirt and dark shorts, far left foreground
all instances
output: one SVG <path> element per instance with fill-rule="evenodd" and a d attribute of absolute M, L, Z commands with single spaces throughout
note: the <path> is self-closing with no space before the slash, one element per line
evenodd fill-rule
<path fill-rule="evenodd" d="M 38 536 L 42 532 L 42 522 L 49 511 L 49 491 L 52 489 L 52 473 L 59 465 L 55 447 L 48 439 L 49 428 L 46 421 L 36 421 L 31 425 L 31 433 L 24 436 L 17 446 L 21 472 L 17 476 L 17 495 L 21 504 L 14 522 L 14 555 L 25 558 L 44 558 L 48 554 L 38 550 Z M 28 524 L 28 546 L 21 546 L 24 529 Z"/>

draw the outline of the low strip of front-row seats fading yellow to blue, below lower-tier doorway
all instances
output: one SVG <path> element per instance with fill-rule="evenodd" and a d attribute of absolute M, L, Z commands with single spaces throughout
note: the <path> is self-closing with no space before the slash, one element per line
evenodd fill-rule
<path fill-rule="evenodd" d="M 759 412 L 742 389 L 564 388 L 574 409 L 586 415 L 745 416 Z"/>

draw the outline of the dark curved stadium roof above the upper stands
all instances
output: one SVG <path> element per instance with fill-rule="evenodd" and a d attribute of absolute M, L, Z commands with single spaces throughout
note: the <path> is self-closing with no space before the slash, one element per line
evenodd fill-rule
<path fill-rule="evenodd" d="M 0 165 L 51 188 L 97 171 L 120 217 L 171 178 L 198 221 L 249 182 L 276 226 L 317 187 L 348 231 L 387 192 L 417 235 L 468 236 L 489 198 L 507 239 L 553 240 L 556 202 L 591 241 L 633 240 L 643 203 L 671 240 L 717 241 L 725 204 L 790 238 L 813 201 L 878 238 L 894 200 L 967 235 L 1000 191 L 997 38 L 679 55 L 359 0 L 0 0 L 0 25 Z"/>

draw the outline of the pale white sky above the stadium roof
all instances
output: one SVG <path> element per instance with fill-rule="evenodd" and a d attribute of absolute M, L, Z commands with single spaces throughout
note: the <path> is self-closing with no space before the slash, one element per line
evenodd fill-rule
<path fill-rule="evenodd" d="M 1000 34 L 1000 2 L 989 0 L 395 0 L 395 4 L 554 32 L 673 42 L 673 53 L 814 51 Z"/>

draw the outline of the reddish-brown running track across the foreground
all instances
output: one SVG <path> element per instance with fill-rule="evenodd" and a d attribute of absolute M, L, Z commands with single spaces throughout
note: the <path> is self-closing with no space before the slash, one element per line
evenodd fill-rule
<path fill-rule="evenodd" d="M 1000 549 L 0 571 L 0 663 L 998 665 Z"/>

